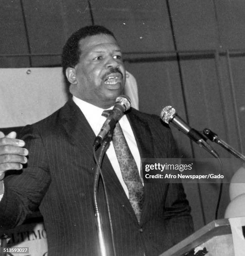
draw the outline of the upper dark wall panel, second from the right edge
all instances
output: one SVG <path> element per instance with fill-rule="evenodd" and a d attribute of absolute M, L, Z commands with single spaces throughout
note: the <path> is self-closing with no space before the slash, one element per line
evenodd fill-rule
<path fill-rule="evenodd" d="M 218 42 L 212 0 L 170 0 L 178 50 L 214 49 Z"/>

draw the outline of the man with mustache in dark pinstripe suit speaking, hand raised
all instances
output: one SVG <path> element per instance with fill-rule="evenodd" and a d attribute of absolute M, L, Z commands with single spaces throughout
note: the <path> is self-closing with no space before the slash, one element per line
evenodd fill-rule
<path fill-rule="evenodd" d="M 25 127 L 22 140 L 13 133 L 5 137 L 2 134 L 0 139 L 0 225 L 19 225 L 39 207 L 49 255 L 100 255 L 92 204 L 92 145 L 106 120 L 101 115 L 103 110 L 112 108 L 123 92 L 121 49 L 106 28 L 84 27 L 66 42 L 62 66 L 72 95 L 68 102 L 48 118 Z M 171 131 L 159 117 L 131 109 L 119 124 L 137 172 L 142 158 L 177 157 Z M 116 255 L 157 256 L 192 233 L 190 207 L 182 184 L 167 184 L 164 180 L 143 184 L 144 202 L 136 218 L 120 167 L 111 142 L 102 170 Z M 3 179 L 9 169 L 22 171 Z M 98 197 L 106 250 L 113 255 L 101 180 Z"/>

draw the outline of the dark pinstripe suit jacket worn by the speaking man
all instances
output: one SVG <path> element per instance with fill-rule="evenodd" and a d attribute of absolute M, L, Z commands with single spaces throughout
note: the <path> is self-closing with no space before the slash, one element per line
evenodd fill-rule
<path fill-rule="evenodd" d="M 127 116 L 141 158 L 176 157 L 171 131 L 160 118 L 134 109 Z M 25 127 L 23 133 L 29 150 L 28 165 L 20 175 L 5 179 L 0 225 L 18 225 L 39 206 L 47 230 L 48 255 L 100 255 L 91 200 L 95 135 L 81 110 L 69 100 L 48 118 Z M 157 256 L 192 233 L 190 208 L 181 184 L 145 184 L 138 224 L 107 156 L 102 169 L 118 256 Z M 111 255 L 101 181 L 99 202 Z"/>

